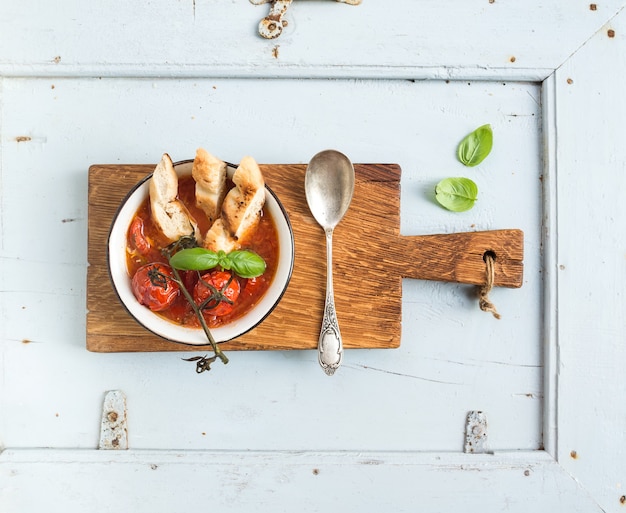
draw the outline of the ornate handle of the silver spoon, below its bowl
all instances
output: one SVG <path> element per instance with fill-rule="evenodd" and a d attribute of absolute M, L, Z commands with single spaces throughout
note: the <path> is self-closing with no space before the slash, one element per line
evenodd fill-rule
<path fill-rule="evenodd" d="M 341 365 L 343 342 L 335 312 L 335 294 L 333 290 L 333 229 L 326 232 L 326 302 L 322 329 L 317 343 L 318 360 L 324 372 L 332 376 Z"/>

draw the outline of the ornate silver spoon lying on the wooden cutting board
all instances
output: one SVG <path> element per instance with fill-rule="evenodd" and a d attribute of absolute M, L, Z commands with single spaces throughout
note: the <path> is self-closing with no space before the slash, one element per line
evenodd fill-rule
<path fill-rule="evenodd" d="M 309 209 L 326 234 L 326 302 L 317 343 L 318 360 L 332 376 L 341 365 L 343 342 L 333 291 L 333 230 L 343 218 L 354 193 L 354 167 L 343 153 L 321 151 L 309 162 L 304 176 Z"/>

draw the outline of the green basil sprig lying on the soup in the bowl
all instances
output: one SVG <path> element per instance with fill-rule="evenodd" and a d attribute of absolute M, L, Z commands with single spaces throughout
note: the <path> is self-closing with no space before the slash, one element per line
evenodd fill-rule
<path fill-rule="evenodd" d="M 265 260 L 248 250 L 211 251 L 205 248 L 182 249 L 172 255 L 170 265 L 181 271 L 206 271 L 214 267 L 232 270 L 242 278 L 256 278 L 265 272 Z"/>

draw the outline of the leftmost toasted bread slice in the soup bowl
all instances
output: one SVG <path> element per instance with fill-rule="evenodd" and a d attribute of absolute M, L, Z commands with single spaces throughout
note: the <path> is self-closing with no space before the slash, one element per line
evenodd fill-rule
<path fill-rule="evenodd" d="M 197 229 L 187 207 L 177 196 L 178 176 L 172 159 L 165 153 L 150 180 L 150 209 L 153 221 L 170 242 L 184 235 L 195 235 Z"/>

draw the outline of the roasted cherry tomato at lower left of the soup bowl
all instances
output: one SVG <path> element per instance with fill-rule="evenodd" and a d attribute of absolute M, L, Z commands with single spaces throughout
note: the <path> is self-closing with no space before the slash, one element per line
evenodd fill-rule
<path fill-rule="evenodd" d="M 167 309 L 178 297 L 180 288 L 172 280 L 172 268 L 161 263 L 147 264 L 133 276 L 132 289 L 137 301 L 153 312 Z"/>

